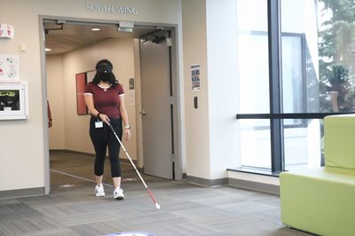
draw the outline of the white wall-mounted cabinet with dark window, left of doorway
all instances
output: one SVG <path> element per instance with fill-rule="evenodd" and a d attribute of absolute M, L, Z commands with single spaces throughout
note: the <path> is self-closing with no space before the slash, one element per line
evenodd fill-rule
<path fill-rule="evenodd" d="M 0 120 L 26 120 L 28 82 L 0 83 Z"/>

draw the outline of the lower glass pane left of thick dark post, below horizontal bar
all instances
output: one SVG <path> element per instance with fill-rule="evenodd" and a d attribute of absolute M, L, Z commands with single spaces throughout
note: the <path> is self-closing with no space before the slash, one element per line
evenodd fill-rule
<path fill-rule="evenodd" d="M 241 120 L 241 165 L 271 169 L 269 120 Z"/>

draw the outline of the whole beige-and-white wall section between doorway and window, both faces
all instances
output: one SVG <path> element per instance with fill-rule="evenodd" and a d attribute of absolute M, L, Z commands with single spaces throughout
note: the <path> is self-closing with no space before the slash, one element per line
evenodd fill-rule
<path fill-rule="evenodd" d="M 183 1 L 187 177 L 224 178 L 240 165 L 235 13 L 233 0 Z M 193 64 L 201 66 L 200 91 L 191 88 Z"/>

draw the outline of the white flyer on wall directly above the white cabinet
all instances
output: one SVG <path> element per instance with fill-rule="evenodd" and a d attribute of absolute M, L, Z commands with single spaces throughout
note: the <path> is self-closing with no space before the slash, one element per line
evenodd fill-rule
<path fill-rule="evenodd" d="M 0 54 L 0 82 L 20 82 L 19 55 Z"/>

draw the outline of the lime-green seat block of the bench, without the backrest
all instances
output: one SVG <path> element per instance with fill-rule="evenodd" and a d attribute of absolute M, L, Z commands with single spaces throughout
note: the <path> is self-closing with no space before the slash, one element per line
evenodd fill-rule
<path fill-rule="evenodd" d="M 319 235 L 355 235 L 355 170 L 332 167 L 280 174 L 283 224 Z"/>

